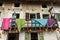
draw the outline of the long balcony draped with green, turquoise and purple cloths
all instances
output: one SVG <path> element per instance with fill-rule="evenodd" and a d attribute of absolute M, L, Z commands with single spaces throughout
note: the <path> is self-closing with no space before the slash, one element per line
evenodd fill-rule
<path fill-rule="evenodd" d="M 6 24 L 6 22 L 4 23 L 4 25 L 5 24 Z M 17 19 L 15 21 L 15 19 L 13 19 L 13 20 L 11 20 L 11 23 L 8 28 L 9 29 L 7 29 L 7 31 L 11 31 L 12 33 L 15 33 L 18 31 L 28 31 L 28 30 L 45 31 L 46 29 L 48 29 L 50 31 L 51 29 L 55 30 L 56 28 L 58 28 L 58 24 L 57 24 L 56 19 L 32 19 L 32 20 L 28 20 L 28 21 L 25 21 L 25 19 Z"/>

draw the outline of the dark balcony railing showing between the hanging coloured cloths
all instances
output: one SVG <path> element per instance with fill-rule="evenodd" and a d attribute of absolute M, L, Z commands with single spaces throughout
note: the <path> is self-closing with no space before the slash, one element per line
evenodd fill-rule
<path fill-rule="evenodd" d="M 41 29 L 41 30 L 45 30 L 45 29 L 48 29 L 48 30 L 55 30 L 56 28 L 58 28 L 58 24 L 57 24 L 57 21 L 55 20 L 55 24 L 53 24 L 52 27 L 49 27 L 47 25 L 48 23 L 46 23 L 46 25 L 42 25 L 41 23 L 39 23 L 38 21 L 34 20 L 29 20 L 29 21 L 25 21 L 25 24 L 23 25 L 22 29 L 21 30 L 29 30 L 29 29 L 32 29 L 32 30 L 37 30 L 37 29 Z M 17 29 L 17 24 L 15 22 L 12 22 L 10 23 L 10 28 L 9 30 L 12 30 L 12 31 L 16 31 L 18 30 Z"/>

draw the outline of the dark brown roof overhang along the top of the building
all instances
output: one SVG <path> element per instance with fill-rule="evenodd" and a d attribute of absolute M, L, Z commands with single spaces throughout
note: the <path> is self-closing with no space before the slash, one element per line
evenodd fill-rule
<path fill-rule="evenodd" d="M 19 1 L 31 1 L 31 2 L 60 2 L 60 0 L 0 0 L 6 2 L 19 2 Z"/>

